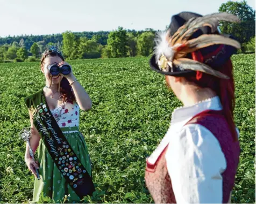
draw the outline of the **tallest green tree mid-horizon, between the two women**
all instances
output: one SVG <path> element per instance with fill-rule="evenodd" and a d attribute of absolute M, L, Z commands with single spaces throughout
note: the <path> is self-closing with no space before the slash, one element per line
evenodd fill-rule
<path fill-rule="evenodd" d="M 108 47 L 111 50 L 111 57 L 126 57 L 127 46 L 127 32 L 122 27 L 109 33 Z"/>

